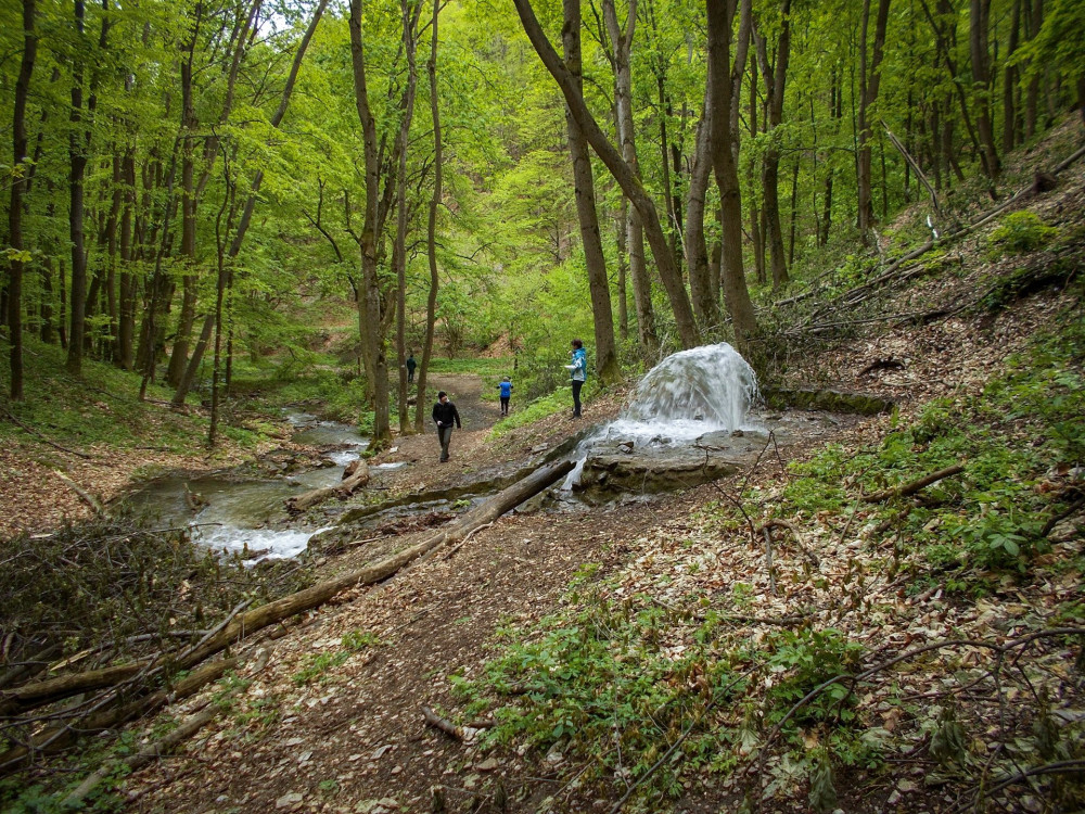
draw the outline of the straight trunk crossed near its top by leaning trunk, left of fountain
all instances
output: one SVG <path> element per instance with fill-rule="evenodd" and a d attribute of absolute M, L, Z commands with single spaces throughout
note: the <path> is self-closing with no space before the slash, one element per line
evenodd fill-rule
<path fill-rule="evenodd" d="M 562 44 L 565 67 L 578 90 L 580 78 L 580 0 L 564 0 L 565 24 Z M 580 225 L 580 243 L 588 272 L 588 291 L 591 295 L 591 316 L 595 325 L 596 367 L 603 384 L 622 381 L 622 368 L 614 345 L 614 315 L 611 310 L 610 279 L 607 277 L 607 258 L 603 255 L 602 236 L 599 232 L 599 214 L 596 211 L 596 183 L 591 174 L 591 155 L 579 125 L 566 107 L 565 127 L 569 133 L 569 152 L 573 160 L 573 185 L 576 196 L 576 217 Z"/>

